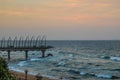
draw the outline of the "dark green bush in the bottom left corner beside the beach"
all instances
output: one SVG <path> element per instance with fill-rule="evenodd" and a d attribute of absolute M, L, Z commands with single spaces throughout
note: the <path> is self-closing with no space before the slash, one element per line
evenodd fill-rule
<path fill-rule="evenodd" d="M 9 72 L 7 62 L 2 57 L 0 57 L 0 80 L 15 80 Z"/>

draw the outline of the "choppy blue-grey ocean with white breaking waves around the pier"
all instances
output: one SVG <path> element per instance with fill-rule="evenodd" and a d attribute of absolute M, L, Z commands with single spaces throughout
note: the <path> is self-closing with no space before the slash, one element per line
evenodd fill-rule
<path fill-rule="evenodd" d="M 46 51 L 52 54 L 41 58 L 40 51 L 11 52 L 11 70 L 61 80 L 120 80 L 119 40 L 49 40 L 47 45 L 54 48 Z M 0 52 L 6 57 L 7 52 Z"/>

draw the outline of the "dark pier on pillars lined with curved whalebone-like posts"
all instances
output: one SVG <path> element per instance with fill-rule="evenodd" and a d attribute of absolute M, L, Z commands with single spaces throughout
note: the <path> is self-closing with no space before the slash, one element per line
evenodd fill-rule
<path fill-rule="evenodd" d="M 44 58 L 45 51 L 50 48 L 53 47 L 46 44 L 45 36 L 38 36 L 36 38 L 34 36 L 27 36 L 25 39 L 23 37 L 20 37 L 19 39 L 17 37 L 15 37 L 14 39 L 9 37 L 7 40 L 3 37 L 2 40 L 0 40 L 0 51 L 8 52 L 8 61 L 10 61 L 11 59 L 11 51 L 24 51 L 25 59 L 27 60 L 28 51 L 41 51 L 42 58 Z"/>

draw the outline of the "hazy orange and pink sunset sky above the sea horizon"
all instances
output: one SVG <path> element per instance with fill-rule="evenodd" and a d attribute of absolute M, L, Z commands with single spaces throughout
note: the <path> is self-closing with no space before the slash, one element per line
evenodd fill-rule
<path fill-rule="evenodd" d="M 0 0 L 0 39 L 120 40 L 120 0 Z"/>

